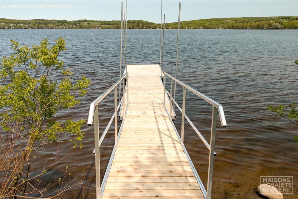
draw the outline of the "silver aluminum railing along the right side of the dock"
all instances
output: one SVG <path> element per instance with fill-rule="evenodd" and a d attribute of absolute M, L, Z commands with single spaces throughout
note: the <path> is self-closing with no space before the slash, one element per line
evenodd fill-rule
<path fill-rule="evenodd" d="M 166 90 L 166 76 L 170 77 L 171 79 L 171 83 L 170 83 L 170 93 Z M 190 166 L 192 167 L 195 177 L 201 187 L 201 190 L 203 192 L 203 195 L 205 198 L 210 199 L 211 198 L 211 188 L 212 188 L 212 175 L 213 175 L 213 161 L 214 161 L 214 156 L 216 156 L 216 153 L 214 152 L 214 147 L 215 147 L 215 134 L 216 134 L 216 122 L 217 122 L 217 112 L 219 114 L 219 118 L 221 121 L 221 127 L 226 127 L 226 118 L 224 115 L 224 109 L 223 106 L 219 103 L 217 103 L 216 101 L 210 99 L 209 97 L 207 97 L 206 95 L 196 91 L 195 89 L 189 87 L 188 85 L 184 84 L 183 82 L 179 81 L 178 79 L 174 78 L 173 76 L 169 75 L 167 72 L 164 72 L 164 107 L 167 110 L 166 106 L 165 106 L 165 96 L 166 94 L 169 95 L 170 97 L 170 114 L 168 113 L 168 116 L 173 124 L 173 121 L 171 119 L 171 115 L 172 115 L 172 102 L 174 102 L 174 104 L 177 106 L 177 108 L 180 110 L 180 112 L 182 113 L 182 121 L 181 121 L 181 138 L 176 130 L 177 136 L 179 137 L 179 141 L 181 143 L 181 146 L 185 152 L 185 154 L 187 155 L 187 158 L 189 159 L 190 162 Z M 177 82 L 178 84 L 180 84 L 183 87 L 183 97 L 182 97 L 182 109 L 181 107 L 178 105 L 178 103 L 175 101 L 175 99 L 173 99 L 172 94 L 173 94 L 173 81 Z M 206 141 L 206 139 L 204 138 L 204 136 L 199 132 L 199 130 L 195 127 L 195 125 L 193 124 L 192 121 L 190 121 L 190 119 L 187 117 L 187 115 L 185 114 L 185 95 L 186 95 L 186 89 L 190 90 L 191 92 L 193 92 L 195 95 L 198 95 L 200 98 L 202 98 L 203 100 L 207 101 L 209 104 L 211 104 L 213 106 L 212 109 L 212 123 L 211 123 L 211 137 L 210 137 L 210 144 L 208 144 L 208 142 Z M 194 165 L 192 163 L 192 161 L 190 160 L 190 157 L 187 153 L 187 150 L 185 149 L 184 146 L 184 119 L 186 119 L 190 126 L 195 130 L 195 132 L 198 134 L 198 136 L 201 138 L 201 140 L 203 141 L 203 143 L 205 144 L 205 146 L 209 149 L 209 165 L 208 165 L 208 181 L 207 181 L 207 191 L 201 181 L 201 179 L 198 176 L 198 173 L 196 172 Z M 174 125 L 173 125 L 174 126 Z"/>

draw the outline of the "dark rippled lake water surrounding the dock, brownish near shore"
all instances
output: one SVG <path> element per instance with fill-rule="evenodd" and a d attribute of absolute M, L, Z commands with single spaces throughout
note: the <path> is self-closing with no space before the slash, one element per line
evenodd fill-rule
<path fill-rule="evenodd" d="M 165 31 L 164 70 L 174 74 L 176 63 L 176 30 Z M 81 103 L 57 118 L 87 119 L 89 103 L 119 78 L 120 30 L 0 30 L 0 55 L 10 55 L 10 39 L 20 44 L 38 44 L 48 38 L 65 38 L 67 51 L 60 60 L 71 67 L 72 79 L 86 75 L 92 82 Z M 128 64 L 159 63 L 159 31 L 128 30 Z M 218 122 L 213 172 L 213 198 L 259 198 L 255 188 L 260 176 L 294 176 L 294 195 L 298 198 L 298 146 L 293 139 L 297 126 L 283 118 L 267 113 L 269 104 L 289 104 L 298 101 L 298 30 L 181 30 L 179 44 L 178 79 L 218 101 L 224 106 L 228 127 Z M 123 63 L 123 62 L 122 62 Z M 146 84 L 146 82 L 144 82 Z M 177 99 L 181 103 L 182 89 Z M 212 106 L 190 92 L 186 93 L 186 114 L 209 141 Z M 100 131 L 103 132 L 114 108 L 113 96 L 100 104 Z M 181 114 L 175 125 L 181 129 Z M 218 119 L 219 121 L 219 119 Z M 86 132 L 83 149 L 61 144 L 61 157 L 45 174 L 44 181 L 58 186 L 65 166 L 73 175 L 85 173 L 84 189 L 75 188 L 64 198 L 95 198 L 95 163 L 93 127 L 83 125 Z M 184 143 L 190 157 L 207 186 L 208 149 L 189 124 L 185 126 Z M 112 148 L 113 129 L 100 148 L 103 177 Z M 57 144 L 36 152 L 31 164 L 42 167 L 45 160 L 55 158 Z M 40 162 L 39 162 L 40 161 Z M 32 166 L 33 167 L 33 166 Z M 50 189 L 54 195 L 57 189 Z"/>

